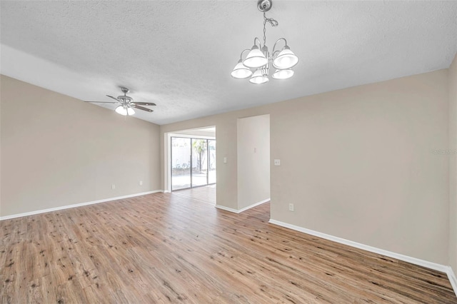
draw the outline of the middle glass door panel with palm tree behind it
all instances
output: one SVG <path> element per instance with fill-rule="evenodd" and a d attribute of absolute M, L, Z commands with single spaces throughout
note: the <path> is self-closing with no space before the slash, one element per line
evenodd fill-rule
<path fill-rule="evenodd" d="M 208 143 L 192 138 L 192 187 L 208 184 Z"/>

